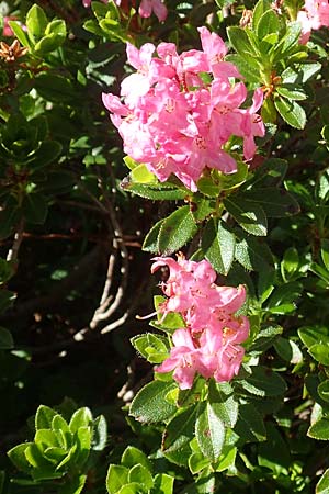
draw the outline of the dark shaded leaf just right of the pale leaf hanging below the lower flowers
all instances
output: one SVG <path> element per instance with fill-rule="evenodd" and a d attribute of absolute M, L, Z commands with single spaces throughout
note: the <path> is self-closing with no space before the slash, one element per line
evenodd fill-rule
<path fill-rule="evenodd" d="M 243 442 L 264 441 L 266 439 L 263 419 L 251 403 L 240 405 L 235 431 Z"/>

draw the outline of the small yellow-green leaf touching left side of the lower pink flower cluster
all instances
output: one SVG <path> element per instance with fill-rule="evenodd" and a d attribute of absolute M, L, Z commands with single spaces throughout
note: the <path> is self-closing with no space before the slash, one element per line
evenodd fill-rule
<path fill-rule="evenodd" d="M 152 333 L 134 336 L 131 341 L 150 363 L 161 363 L 170 350 L 168 338 Z"/>

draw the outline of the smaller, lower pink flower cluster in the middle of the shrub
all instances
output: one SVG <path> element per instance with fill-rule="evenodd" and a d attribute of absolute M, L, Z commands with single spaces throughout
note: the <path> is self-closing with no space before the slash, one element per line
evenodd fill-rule
<path fill-rule="evenodd" d="M 170 356 L 156 369 L 173 372 L 181 390 L 192 388 L 195 373 L 217 382 L 230 381 L 237 375 L 245 355 L 239 345 L 249 334 L 246 316 L 236 316 L 246 300 L 243 285 L 219 287 L 216 272 L 208 261 L 189 261 L 182 255 L 155 258 L 151 271 L 168 266 L 170 276 L 162 283 L 168 296 L 160 312 L 179 312 L 186 327 L 172 335 Z"/>

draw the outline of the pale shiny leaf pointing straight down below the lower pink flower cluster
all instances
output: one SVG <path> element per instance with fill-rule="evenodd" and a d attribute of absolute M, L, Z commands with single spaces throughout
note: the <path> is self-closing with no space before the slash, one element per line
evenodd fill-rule
<path fill-rule="evenodd" d="M 203 454 L 212 461 L 218 460 L 225 440 L 225 427 L 217 414 L 215 402 L 200 404 L 195 422 L 195 437 Z"/>

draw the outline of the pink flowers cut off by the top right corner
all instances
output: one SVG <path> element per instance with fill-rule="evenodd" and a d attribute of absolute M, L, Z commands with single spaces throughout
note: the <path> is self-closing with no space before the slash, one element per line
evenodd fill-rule
<path fill-rule="evenodd" d="M 302 24 L 299 42 L 304 45 L 308 42 L 311 30 L 329 27 L 328 0 L 305 0 L 304 10 L 298 12 L 297 21 Z"/>

